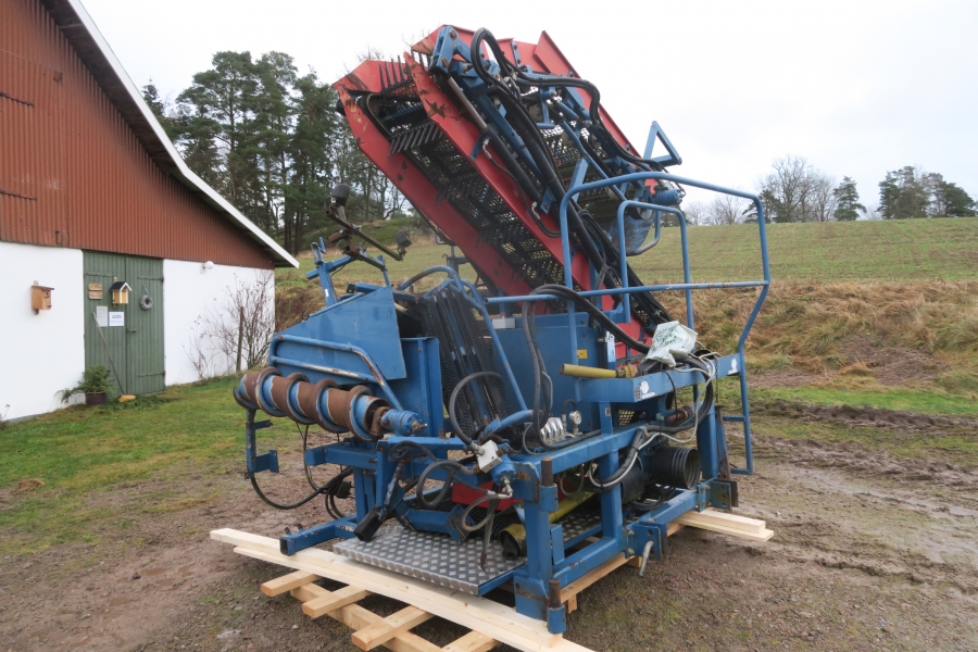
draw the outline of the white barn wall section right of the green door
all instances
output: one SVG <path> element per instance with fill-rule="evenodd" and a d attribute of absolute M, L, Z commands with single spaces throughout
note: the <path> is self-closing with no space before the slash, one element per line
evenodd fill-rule
<path fill-rule="evenodd" d="M 200 380 L 191 363 L 191 342 L 199 342 L 204 354 L 211 359 L 211 376 L 235 371 L 235 360 L 215 351 L 205 338 L 198 338 L 202 331 L 201 318 L 211 315 L 226 315 L 225 305 L 229 288 L 238 283 L 253 284 L 265 278 L 274 284 L 271 269 L 214 265 L 202 271 L 201 263 L 187 261 L 163 261 L 163 353 L 165 355 L 166 385 L 179 385 Z M 274 296 L 274 294 L 273 294 Z M 237 319 L 237 316 L 234 317 Z"/>

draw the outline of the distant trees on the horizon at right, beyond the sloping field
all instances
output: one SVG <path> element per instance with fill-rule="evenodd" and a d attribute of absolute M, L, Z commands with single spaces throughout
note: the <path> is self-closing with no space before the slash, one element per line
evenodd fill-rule
<path fill-rule="evenodd" d="M 868 209 L 861 203 L 855 180 L 843 176 L 837 181 L 801 156 L 776 160 L 772 172 L 757 181 L 756 192 L 768 223 L 978 215 L 978 204 L 961 186 L 912 165 L 887 172 L 879 183 L 879 203 Z M 709 204 L 693 201 L 682 208 L 694 225 L 757 222 L 753 204 L 727 195 Z"/>

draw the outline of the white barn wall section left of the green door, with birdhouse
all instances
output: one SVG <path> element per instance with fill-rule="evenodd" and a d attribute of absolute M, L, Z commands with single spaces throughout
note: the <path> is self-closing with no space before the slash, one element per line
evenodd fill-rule
<path fill-rule="evenodd" d="M 85 371 L 82 250 L 0 242 L 0 417 L 51 412 Z M 51 310 L 37 315 L 35 280 L 54 288 Z"/>

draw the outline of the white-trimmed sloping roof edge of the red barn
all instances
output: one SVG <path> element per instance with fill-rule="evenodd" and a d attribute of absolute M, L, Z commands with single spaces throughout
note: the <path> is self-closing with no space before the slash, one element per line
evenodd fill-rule
<path fill-rule="evenodd" d="M 163 126 L 142 99 L 142 93 L 112 52 L 112 48 L 82 2 L 79 0 L 41 0 L 41 2 L 78 57 L 91 71 L 99 86 L 122 113 L 150 158 L 265 249 L 275 260 L 276 266 L 298 267 L 299 261 L 187 167 L 167 138 Z"/>

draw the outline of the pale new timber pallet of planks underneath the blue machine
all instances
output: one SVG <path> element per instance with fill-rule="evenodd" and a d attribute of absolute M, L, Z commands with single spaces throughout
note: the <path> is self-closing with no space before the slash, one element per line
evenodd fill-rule
<path fill-rule="evenodd" d="M 767 540 L 774 535 L 765 529 L 763 521 L 712 510 L 681 516 L 669 525 L 668 535 L 672 536 L 684 525 L 755 541 Z M 362 650 L 385 647 L 394 652 L 481 652 L 505 643 L 527 652 L 590 652 L 559 634 L 550 634 L 542 620 L 518 614 L 514 609 L 486 598 L 367 566 L 316 548 L 286 556 L 279 552 L 277 539 L 234 529 L 214 530 L 211 538 L 235 546 L 235 552 L 239 554 L 294 568 L 293 573 L 263 584 L 262 592 L 266 595 L 291 593 L 302 602 L 302 612 L 308 616 L 329 616 L 346 624 L 354 630 L 353 643 Z M 561 601 L 567 613 L 577 609 L 580 591 L 625 564 L 638 566 L 641 559 L 626 559 L 619 554 L 564 587 Z M 347 586 L 328 591 L 313 584 L 322 578 Z M 356 604 L 372 593 L 399 600 L 406 606 L 383 617 Z M 457 623 L 471 631 L 444 647 L 411 632 L 411 629 L 435 616 Z"/>

